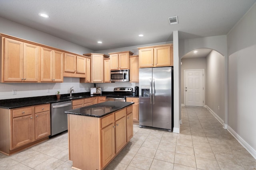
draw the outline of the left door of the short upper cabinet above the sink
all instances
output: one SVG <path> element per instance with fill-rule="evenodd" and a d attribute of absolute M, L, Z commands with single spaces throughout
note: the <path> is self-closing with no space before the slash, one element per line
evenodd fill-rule
<path fill-rule="evenodd" d="M 76 56 L 65 53 L 64 55 L 64 72 L 76 72 Z"/>

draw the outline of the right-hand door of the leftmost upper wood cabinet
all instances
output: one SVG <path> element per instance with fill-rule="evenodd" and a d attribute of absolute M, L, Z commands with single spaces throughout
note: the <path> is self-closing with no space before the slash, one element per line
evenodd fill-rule
<path fill-rule="evenodd" d="M 39 82 L 40 47 L 24 43 L 23 81 Z"/>

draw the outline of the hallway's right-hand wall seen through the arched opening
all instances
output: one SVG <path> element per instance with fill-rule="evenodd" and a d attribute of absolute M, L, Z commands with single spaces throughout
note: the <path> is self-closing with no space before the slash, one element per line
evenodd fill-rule
<path fill-rule="evenodd" d="M 224 57 L 217 51 L 212 50 L 206 57 L 206 70 L 206 105 L 223 121 L 225 120 Z"/>

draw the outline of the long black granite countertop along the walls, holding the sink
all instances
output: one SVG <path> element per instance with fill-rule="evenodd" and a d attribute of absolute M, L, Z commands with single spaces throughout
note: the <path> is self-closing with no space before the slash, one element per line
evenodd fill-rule
<path fill-rule="evenodd" d="M 52 103 L 65 102 L 65 101 L 71 101 L 71 100 L 82 99 L 82 98 L 90 98 L 94 96 L 108 96 L 111 94 L 113 94 L 113 92 L 102 92 L 102 94 L 95 94 L 95 95 L 91 95 L 90 92 L 84 92 L 84 93 L 73 94 L 74 95 L 73 98 L 69 98 L 69 94 L 62 94 L 60 96 L 60 100 L 57 100 L 56 95 L 6 99 L 6 100 L 0 100 L 0 108 L 14 109 L 18 107 L 35 106 L 40 104 L 52 104 Z M 80 97 L 78 98 L 78 96 Z M 136 96 L 132 96 L 132 97 L 136 97 Z"/>

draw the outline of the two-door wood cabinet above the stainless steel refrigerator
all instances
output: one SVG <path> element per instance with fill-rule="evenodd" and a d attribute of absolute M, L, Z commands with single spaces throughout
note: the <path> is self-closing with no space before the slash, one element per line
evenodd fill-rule
<path fill-rule="evenodd" d="M 173 44 L 139 47 L 139 67 L 173 66 Z"/>

